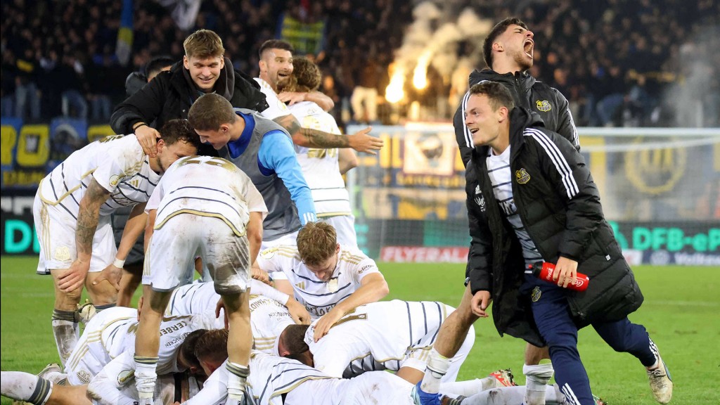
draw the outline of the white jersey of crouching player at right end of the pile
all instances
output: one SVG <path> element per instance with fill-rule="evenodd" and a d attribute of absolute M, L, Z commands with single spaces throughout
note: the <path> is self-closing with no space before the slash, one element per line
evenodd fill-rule
<path fill-rule="evenodd" d="M 342 377 L 353 360 L 372 355 L 387 370 L 399 370 L 413 348 L 432 347 L 451 306 L 439 302 L 382 301 L 355 308 L 340 319 L 328 334 L 315 342 L 314 321 L 305 343 L 315 368 Z M 424 370 L 424 368 L 423 368 Z"/>

